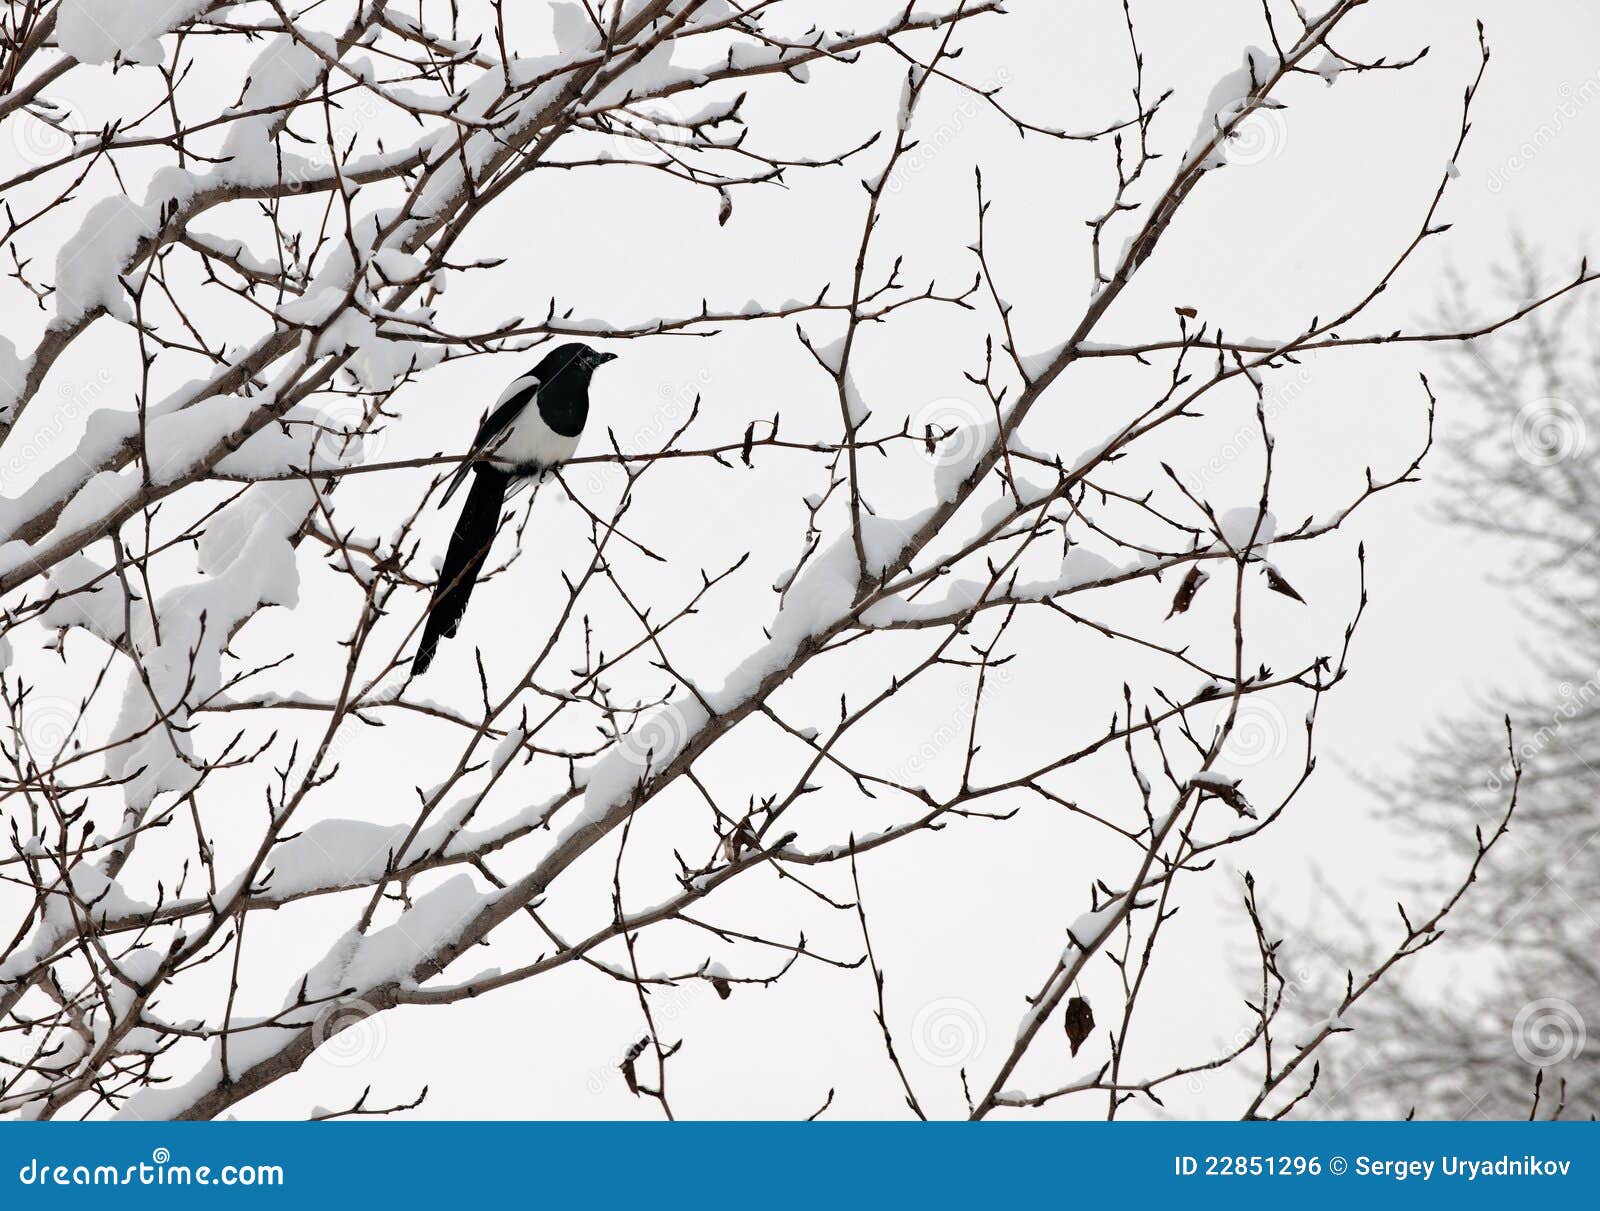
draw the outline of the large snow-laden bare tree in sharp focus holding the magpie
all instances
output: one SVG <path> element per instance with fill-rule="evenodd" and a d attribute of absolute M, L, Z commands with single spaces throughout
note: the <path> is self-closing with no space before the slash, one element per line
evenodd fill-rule
<path fill-rule="evenodd" d="M 1237 339 L 1182 298 L 1142 334 L 1107 314 L 1168 243 L 1214 238 L 1179 214 L 1237 171 L 1240 141 L 1285 96 L 1338 104 L 1325 83 L 1419 67 L 1421 48 L 1344 45 L 1360 0 L 1269 5 L 1248 32 L 1267 50 L 1218 82 L 1192 134 L 1147 78 L 1126 10 L 1106 50 L 1126 56 L 1120 114 L 1064 131 L 963 75 L 968 30 L 1002 37 L 1011 19 L 998 0 L 890 5 L 854 30 L 813 24 L 798 0 L 589 0 L 552 6 L 554 54 L 518 53 L 512 8 L 10 5 L 0 118 L 29 123 L 35 155 L 0 182 L 5 262 L 45 322 L 30 349 L 0 342 L 0 453 L 21 485 L 0 514 L 0 1110 L 214 1117 L 390 1013 L 448 1019 L 582 971 L 594 997 L 637 1003 L 637 1038 L 603 1059 L 672 1115 L 675 1064 L 717 1045 L 675 1030 L 672 998 L 707 987 L 728 1013 L 760 1014 L 765 987 L 811 971 L 829 981 L 827 1013 L 874 1016 L 918 1117 L 1117 1115 L 1222 1069 L 1245 1081 L 1237 1112 L 1291 1112 L 1346 1011 L 1440 936 L 1517 795 L 1510 774 L 1493 822 L 1466 832 L 1459 881 L 1318 1029 L 1274 1029 L 1285 976 L 1248 877 L 1232 928 L 1259 981 L 1227 992 L 1246 1006 L 1237 1037 L 1182 1037 L 1146 1003 L 1179 902 L 1230 878 L 1218 859 L 1301 801 L 1317 712 L 1366 605 L 1338 531 L 1414 480 L 1432 442 L 1429 384 L 1397 384 L 1414 410 L 1374 435 L 1365 485 L 1280 520 L 1275 384 L 1310 358 L 1461 339 L 1592 280 L 1579 270 L 1515 315 L 1368 328 L 1374 299 L 1448 230 L 1482 35 L 1475 77 L 1450 82 L 1466 102 L 1429 149 L 1438 184 L 1414 200 L 1410 238 L 1357 296 Z M 1373 37 L 1368 22 L 1360 40 Z M 898 102 L 851 91 L 885 62 Z M 93 114 L 54 99 L 93 64 L 144 93 Z M 230 72 L 237 96 L 206 107 L 194 82 Z M 795 150 L 746 125 L 749 98 L 797 86 L 842 93 L 864 128 L 822 125 Z M 1091 274 L 1059 283 L 1051 315 L 1010 301 L 1008 274 L 1027 267 L 997 240 L 1038 195 L 973 174 L 970 218 L 947 232 L 971 250 L 955 280 L 896 243 L 931 98 L 970 104 L 1042 166 L 1078 157 L 1075 171 L 1107 174 L 1099 213 L 1058 216 Z M 142 202 L 125 192 L 134 173 Z M 854 208 L 837 234 L 851 272 L 821 293 L 808 277 L 752 283 L 768 298 L 755 304 L 701 301 L 688 283 L 677 315 L 578 318 L 552 299 L 472 318 L 490 272 L 542 298 L 523 250 L 499 269 L 461 251 L 474 224 L 512 198 L 555 206 L 518 192 L 528 178 L 600 173 L 618 190 L 672 178 L 718 224 L 758 190 L 834 174 Z M 550 238 L 584 238 L 582 221 L 522 219 Z M 672 235 L 648 214 L 606 234 Z M 894 389 L 898 368 L 952 354 L 918 344 L 928 312 L 968 333 L 947 390 L 965 405 Z M 483 637 L 443 699 L 408 681 L 440 546 L 432 502 L 464 454 L 382 461 L 368 438 L 416 414 L 430 374 L 506 354 L 510 379 L 528 350 L 574 336 L 637 357 L 694 339 L 712 362 L 763 325 L 794 333 L 803 360 L 782 373 L 810 406 L 694 398 L 635 437 L 592 422 L 581 458 L 507 515 L 522 538 L 539 514 L 541 570 L 501 547 L 504 574 L 530 586 L 525 625 Z M 96 342 L 107 330 L 115 342 Z M 1050 339 L 1021 336 L 1037 331 Z M 58 381 L 99 386 L 64 398 Z M 1091 406 L 1101 437 L 1086 448 L 1034 437 L 1051 413 Z M 1210 446 L 1168 440 L 1208 416 L 1259 434 L 1243 498 L 1219 499 L 1198 472 Z M 466 442 L 466 418 L 459 430 Z M 749 558 L 701 566 L 693 526 L 651 523 L 717 509 L 730 475 L 765 486 L 790 523 Z M 357 494 L 374 478 L 392 485 L 382 507 Z M 1254 640 L 1264 603 L 1301 598 L 1296 568 L 1318 547 L 1347 570 L 1338 603 L 1312 603 L 1338 619 L 1304 657 Z M 274 630 L 286 611 L 293 629 Z M 1214 624 L 1184 629 L 1202 616 Z M 682 656 L 707 627 L 722 667 Z M 328 635 L 336 648 L 318 646 Z M 1062 653 L 1045 747 L 987 725 L 1010 678 Z M 1085 699 L 1096 667 L 1114 688 Z M 958 704 L 960 726 L 925 773 L 877 729 L 926 702 Z M 1298 741 L 1304 720 L 1304 752 L 1246 785 L 1227 750 L 1264 702 Z M 410 795 L 373 793 L 395 771 Z M 1048 942 L 1006 992 L 998 1059 L 933 1086 L 906 1062 L 886 974 L 880 910 L 906 894 L 886 864 L 1038 814 L 1099 869 L 1062 888 L 1075 904 L 1059 921 L 1016 921 Z M 394 1088 L 386 1073 L 318 1117 L 410 1109 L 426 1080 Z M 794 1089 L 794 1113 L 826 1110 L 853 1080 Z"/>

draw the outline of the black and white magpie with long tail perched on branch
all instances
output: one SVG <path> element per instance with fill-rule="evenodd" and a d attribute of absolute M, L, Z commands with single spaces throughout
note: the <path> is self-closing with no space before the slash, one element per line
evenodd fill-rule
<path fill-rule="evenodd" d="M 440 506 L 446 504 L 462 480 L 472 475 L 467 502 L 450 536 L 445 566 L 427 608 L 422 646 L 411 661 L 413 677 L 427 670 L 438 641 L 454 635 L 461 625 L 472 586 L 494 544 L 507 488 L 518 478 L 542 475 L 573 456 L 589 418 L 589 379 L 614 358 L 616 354 L 602 354 L 584 344 L 562 346 L 506 387 L 485 414 L 472 450 L 440 498 Z"/>

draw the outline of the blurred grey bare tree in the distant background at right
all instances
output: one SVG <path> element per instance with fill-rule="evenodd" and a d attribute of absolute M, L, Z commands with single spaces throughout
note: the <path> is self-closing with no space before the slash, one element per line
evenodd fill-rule
<path fill-rule="evenodd" d="M 1520 248 L 1501 293 L 1547 280 Z M 1459 318 L 1461 283 L 1443 318 Z M 1600 346 L 1595 310 L 1570 299 L 1448 360 L 1462 402 L 1451 440 L 1453 525 L 1509 539 L 1496 579 L 1533 621 L 1530 677 L 1442 721 L 1414 768 L 1378 790 L 1418 853 L 1459 853 L 1493 827 L 1510 782 L 1510 702 L 1522 787 L 1517 827 L 1451 920 L 1458 974 L 1402 979 L 1365 1011 L 1339 1061 L 1333 1109 L 1427 1118 L 1600 1113 Z M 1435 467 L 1438 470 L 1440 467 Z M 1490 547 L 1498 549 L 1498 547 Z M 1432 864 L 1419 865 L 1430 870 Z M 1446 867 L 1448 869 L 1448 867 Z M 1448 875 L 1445 875 L 1448 878 Z M 1419 880 L 1437 894 L 1438 880 Z M 1448 995 L 1442 995 L 1448 989 Z"/>

